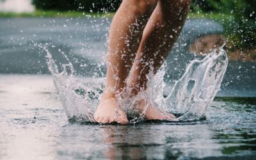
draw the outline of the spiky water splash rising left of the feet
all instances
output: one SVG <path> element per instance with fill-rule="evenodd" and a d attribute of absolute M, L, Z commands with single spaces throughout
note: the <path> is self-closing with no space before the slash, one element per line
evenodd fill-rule
<path fill-rule="evenodd" d="M 54 86 L 60 95 L 63 109 L 69 120 L 84 122 L 95 122 L 93 113 L 99 102 L 100 91 L 102 90 L 102 79 L 90 79 L 83 81 L 74 76 L 74 67 L 64 52 L 64 58 L 68 61 L 59 68 L 54 62 L 51 53 L 47 52 L 47 65 L 53 76 Z M 60 71 L 59 69 L 62 69 Z M 95 83 L 92 84 L 92 81 Z M 87 82 L 87 83 L 86 83 Z"/>

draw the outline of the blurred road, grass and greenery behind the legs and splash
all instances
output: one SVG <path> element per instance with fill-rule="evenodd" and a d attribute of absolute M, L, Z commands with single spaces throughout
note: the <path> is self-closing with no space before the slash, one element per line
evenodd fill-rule
<path fill-rule="evenodd" d="M 61 65 L 65 52 L 80 76 L 104 76 L 111 19 L 120 0 L 1 0 L 0 73 L 49 74 L 45 51 Z M 219 95 L 256 96 L 256 0 L 191 2 L 184 29 L 167 60 L 166 82 L 223 44 L 229 65 Z M 38 47 L 40 45 L 41 47 Z"/>

